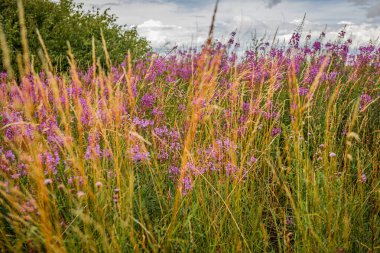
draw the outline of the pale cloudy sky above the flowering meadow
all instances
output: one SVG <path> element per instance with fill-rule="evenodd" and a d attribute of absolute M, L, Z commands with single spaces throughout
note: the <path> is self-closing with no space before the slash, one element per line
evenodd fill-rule
<path fill-rule="evenodd" d="M 137 26 L 153 47 L 199 45 L 206 39 L 215 0 L 75 0 L 86 8 L 111 9 L 118 23 Z M 380 37 L 380 0 L 220 0 L 215 36 L 225 40 L 233 30 L 241 44 L 253 33 L 288 40 L 306 13 L 304 32 L 318 37 L 325 30 L 336 38 L 347 26 L 356 45 Z M 354 43 L 354 44 L 355 44 Z"/>

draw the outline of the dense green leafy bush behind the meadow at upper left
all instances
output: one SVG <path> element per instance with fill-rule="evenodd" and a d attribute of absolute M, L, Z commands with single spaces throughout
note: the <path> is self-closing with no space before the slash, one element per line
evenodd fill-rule
<path fill-rule="evenodd" d="M 29 49 L 35 62 L 39 61 L 38 51 L 41 49 L 37 29 L 42 35 L 53 65 L 62 70 L 68 67 L 67 42 L 70 43 L 75 58 L 80 59 L 80 67 L 86 68 L 91 65 L 92 37 L 95 41 L 96 55 L 100 57 L 101 63 L 105 63 L 101 30 L 113 62 L 122 61 L 128 51 L 133 57 L 140 57 L 150 49 L 147 40 L 138 35 L 136 28 L 127 29 L 126 26 L 117 25 L 116 17 L 109 14 L 109 10 L 84 11 L 83 4 L 75 4 L 73 0 L 33 0 L 23 1 L 23 4 Z M 0 23 L 8 41 L 12 63 L 17 66 L 16 58 L 17 54 L 22 54 L 22 45 L 16 0 L 0 1 Z M 3 69 L 2 63 L 0 69 Z"/>

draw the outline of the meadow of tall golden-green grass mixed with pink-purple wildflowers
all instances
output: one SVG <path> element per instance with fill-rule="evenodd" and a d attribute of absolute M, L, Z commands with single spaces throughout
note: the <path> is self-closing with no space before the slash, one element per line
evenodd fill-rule
<path fill-rule="evenodd" d="M 379 47 L 234 36 L 5 62 L 0 252 L 379 252 Z"/>

